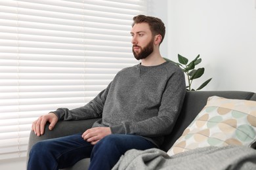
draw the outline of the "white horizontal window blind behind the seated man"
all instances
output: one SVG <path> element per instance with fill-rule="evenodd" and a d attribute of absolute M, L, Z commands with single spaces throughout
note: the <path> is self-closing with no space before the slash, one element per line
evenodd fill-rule
<path fill-rule="evenodd" d="M 133 16 L 146 0 L 0 1 L 0 160 L 26 156 L 31 124 L 74 109 L 135 65 Z"/>

